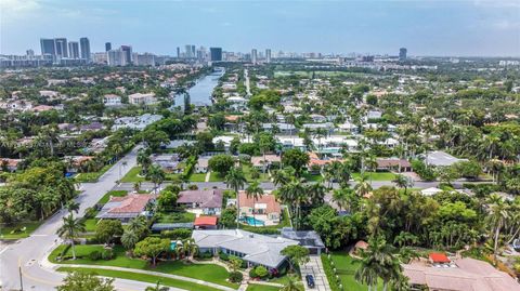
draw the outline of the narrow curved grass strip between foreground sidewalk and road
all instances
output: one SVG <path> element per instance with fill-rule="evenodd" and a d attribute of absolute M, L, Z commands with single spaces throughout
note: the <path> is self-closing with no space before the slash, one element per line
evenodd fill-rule
<path fill-rule="evenodd" d="M 150 282 L 156 283 L 160 281 L 161 286 L 168 287 L 176 287 L 185 290 L 194 290 L 194 291 L 214 291 L 219 289 L 214 289 L 211 287 L 207 287 L 204 285 L 186 282 L 178 279 L 166 278 L 160 276 L 153 276 L 147 274 L 136 274 L 132 272 L 121 272 L 121 270 L 112 270 L 112 269 L 95 269 L 95 268 L 75 268 L 75 267 L 60 267 L 57 268 L 58 272 L 86 272 L 86 273 L 93 273 L 99 276 L 103 277 L 110 277 L 110 278 L 120 278 L 120 279 L 128 279 L 134 281 L 142 281 L 142 282 Z"/>

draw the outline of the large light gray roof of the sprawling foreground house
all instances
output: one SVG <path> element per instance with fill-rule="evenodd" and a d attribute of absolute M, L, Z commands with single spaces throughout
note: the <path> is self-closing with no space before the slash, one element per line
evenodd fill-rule
<path fill-rule="evenodd" d="M 194 230 L 192 238 L 199 248 L 224 248 L 246 254 L 242 259 L 276 268 L 285 260 L 280 252 L 298 241 L 258 235 L 242 229 Z"/>

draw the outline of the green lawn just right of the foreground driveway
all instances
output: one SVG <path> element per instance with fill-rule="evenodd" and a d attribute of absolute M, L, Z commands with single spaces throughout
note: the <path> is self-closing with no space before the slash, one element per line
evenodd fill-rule
<path fill-rule="evenodd" d="M 352 290 L 352 291 L 368 290 L 367 286 L 360 285 L 358 281 L 355 281 L 354 274 L 355 274 L 355 270 L 358 269 L 359 263 L 355 262 L 354 259 L 352 259 L 352 256 L 350 256 L 348 252 L 342 251 L 342 252 L 333 253 L 332 261 L 335 264 L 335 267 L 338 272 L 338 275 L 343 288 L 347 287 L 348 290 Z M 328 264 L 328 259 L 326 254 L 322 254 L 322 263 L 324 264 L 325 273 L 327 273 L 327 278 L 330 283 L 330 287 L 333 288 L 333 290 L 338 290 L 337 286 L 333 287 L 335 278 L 332 278 L 330 274 L 328 274 L 329 272 L 327 272 L 327 266 L 329 266 L 329 264 Z M 328 270 L 330 270 L 330 268 L 328 268 Z M 378 290 L 380 290 L 381 288 L 382 288 L 382 283 L 379 282 Z"/>

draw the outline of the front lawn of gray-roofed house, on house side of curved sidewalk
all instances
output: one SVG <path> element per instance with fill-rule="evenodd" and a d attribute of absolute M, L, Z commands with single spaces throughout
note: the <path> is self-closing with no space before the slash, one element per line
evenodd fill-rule
<path fill-rule="evenodd" d="M 114 259 L 113 260 L 99 260 L 92 261 L 88 257 L 88 254 L 94 250 L 103 250 L 102 246 L 96 244 L 83 244 L 76 246 L 76 256 L 77 260 L 74 261 L 56 261 L 63 250 L 65 244 L 62 244 L 54 249 L 49 255 L 49 261 L 56 264 L 83 264 L 83 265 L 101 265 L 101 266 L 116 266 L 116 267 L 126 267 L 126 268 L 136 268 L 136 269 L 146 269 L 160 272 L 166 274 L 173 274 L 184 277 L 190 277 L 194 279 L 199 279 L 208 282 L 213 282 L 222 286 L 227 286 L 231 288 L 237 288 L 238 285 L 230 283 L 227 279 L 227 270 L 221 266 L 213 264 L 204 264 L 204 265 L 188 265 L 184 264 L 181 261 L 166 261 L 157 264 L 156 267 L 152 267 L 148 261 L 141 259 L 128 257 L 125 253 L 125 249 L 121 246 L 116 246 L 114 248 Z M 65 257 L 72 256 L 72 249 L 65 254 Z"/>

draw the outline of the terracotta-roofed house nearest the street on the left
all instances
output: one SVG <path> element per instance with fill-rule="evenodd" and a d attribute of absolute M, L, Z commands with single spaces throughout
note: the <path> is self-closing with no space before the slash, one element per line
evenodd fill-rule
<path fill-rule="evenodd" d="M 129 194 L 125 197 L 110 197 L 100 210 L 96 219 L 120 220 L 129 222 L 139 215 L 148 216 L 146 207 L 155 201 L 156 196 L 151 194 Z"/>

